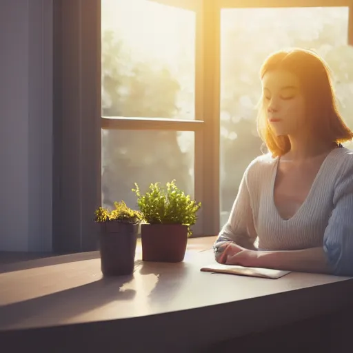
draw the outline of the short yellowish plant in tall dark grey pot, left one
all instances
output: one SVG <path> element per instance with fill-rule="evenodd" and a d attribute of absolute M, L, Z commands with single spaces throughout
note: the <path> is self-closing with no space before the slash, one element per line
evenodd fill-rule
<path fill-rule="evenodd" d="M 95 221 L 101 224 L 99 250 L 101 271 L 105 276 L 132 274 L 136 253 L 137 233 L 141 213 L 125 204 L 115 202 L 115 210 L 99 207 Z"/>

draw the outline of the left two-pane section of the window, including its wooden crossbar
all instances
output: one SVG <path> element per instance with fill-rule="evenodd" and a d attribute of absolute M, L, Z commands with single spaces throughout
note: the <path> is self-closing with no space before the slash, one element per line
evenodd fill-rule
<path fill-rule="evenodd" d="M 145 190 L 150 183 L 176 179 L 203 203 L 194 227 L 198 236 L 219 228 L 218 215 L 213 223 L 207 217 L 214 207 L 205 202 L 212 190 L 205 194 L 198 187 L 214 184 L 206 173 L 214 163 L 205 159 L 212 124 L 207 128 L 205 122 L 219 113 L 204 113 L 201 103 L 207 94 L 202 70 L 207 48 L 196 36 L 204 23 L 196 3 L 101 0 L 101 187 L 105 207 L 123 199 L 134 208 L 135 182 Z"/>

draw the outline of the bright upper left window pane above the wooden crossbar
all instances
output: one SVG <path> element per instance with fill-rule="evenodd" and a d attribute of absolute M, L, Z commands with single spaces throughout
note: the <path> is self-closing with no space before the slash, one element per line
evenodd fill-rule
<path fill-rule="evenodd" d="M 196 14 L 102 0 L 102 114 L 195 119 Z"/>

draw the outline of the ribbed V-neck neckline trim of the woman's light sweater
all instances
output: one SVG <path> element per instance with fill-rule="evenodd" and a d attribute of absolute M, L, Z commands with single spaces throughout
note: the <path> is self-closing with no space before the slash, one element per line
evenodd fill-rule
<path fill-rule="evenodd" d="M 319 183 L 319 179 L 321 177 L 321 174 L 323 173 L 323 170 L 325 168 L 325 165 L 327 164 L 327 162 L 330 160 L 330 158 L 332 157 L 332 155 L 335 153 L 336 150 L 339 150 L 339 148 L 334 148 L 333 150 L 331 150 L 327 156 L 325 157 L 325 159 L 323 160 L 323 162 L 320 165 L 319 171 L 316 173 L 316 176 L 314 178 L 314 181 L 312 182 L 312 185 L 310 187 L 309 192 L 307 193 L 305 200 L 303 201 L 303 203 L 301 203 L 300 207 L 298 210 L 296 210 L 296 212 L 288 219 L 284 219 L 281 214 L 279 213 L 279 210 L 276 206 L 276 203 L 274 202 L 274 184 L 276 183 L 276 176 L 277 176 L 277 172 L 279 170 L 279 161 L 280 158 L 277 157 L 276 158 L 276 163 L 274 165 L 274 170 L 272 172 L 272 182 L 271 182 L 271 204 L 272 207 L 274 208 L 274 211 L 276 213 L 276 216 L 279 217 L 279 219 L 281 219 L 281 221 L 283 222 L 290 222 L 293 219 L 296 219 L 301 212 L 303 212 L 303 209 L 305 208 L 305 206 L 307 205 L 307 203 L 310 201 L 310 199 L 312 198 L 312 195 L 314 194 L 314 190 L 316 189 L 316 185 Z"/>

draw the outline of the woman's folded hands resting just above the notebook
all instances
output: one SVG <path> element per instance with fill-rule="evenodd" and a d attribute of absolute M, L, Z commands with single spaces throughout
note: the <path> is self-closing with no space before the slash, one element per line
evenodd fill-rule
<path fill-rule="evenodd" d="M 220 243 L 216 252 L 216 261 L 226 265 L 256 267 L 257 259 L 257 251 L 245 249 L 230 241 Z"/>

